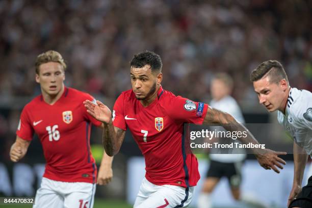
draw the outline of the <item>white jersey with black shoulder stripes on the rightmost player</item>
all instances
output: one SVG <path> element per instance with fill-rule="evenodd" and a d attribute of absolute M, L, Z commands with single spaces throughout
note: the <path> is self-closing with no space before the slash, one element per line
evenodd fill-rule
<path fill-rule="evenodd" d="M 278 111 L 278 122 L 307 154 L 312 153 L 312 93 L 291 88 L 285 115 Z"/>

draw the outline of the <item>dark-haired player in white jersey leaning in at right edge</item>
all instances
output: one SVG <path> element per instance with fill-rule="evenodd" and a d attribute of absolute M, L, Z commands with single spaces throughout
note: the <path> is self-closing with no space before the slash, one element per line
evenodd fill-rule
<path fill-rule="evenodd" d="M 312 207 L 312 177 L 301 187 L 308 155 L 312 153 L 312 93 L 289 85 L 278 61 L 266 61 L 250 75 L 259 103 L 269 112 L 278 111 L 278 122 L 294 139 L 294 181 L 289 207 Z"/>

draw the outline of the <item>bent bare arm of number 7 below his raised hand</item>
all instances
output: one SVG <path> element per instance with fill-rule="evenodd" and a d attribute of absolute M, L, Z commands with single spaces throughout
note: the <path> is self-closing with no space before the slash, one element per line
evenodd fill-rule
<path fill-rule="evenodd" d="M 122 138 L 120 133 L 115 132 L 113 121 L 109 123 L 104 123 L 104 130 L 102 136 L 102 143 L 105 149 L 105 152 L 110 156 L 114 156 L 119 152 L 119 149 L 122 144 Z"/>

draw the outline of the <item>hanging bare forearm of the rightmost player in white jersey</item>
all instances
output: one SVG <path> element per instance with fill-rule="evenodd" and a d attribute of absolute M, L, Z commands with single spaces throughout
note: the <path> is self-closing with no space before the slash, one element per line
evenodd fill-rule
<path fill-rule="evenodd" d="M 301 186 L 307 158 L 306 152 L 294 142 L 294 186 Z"/>

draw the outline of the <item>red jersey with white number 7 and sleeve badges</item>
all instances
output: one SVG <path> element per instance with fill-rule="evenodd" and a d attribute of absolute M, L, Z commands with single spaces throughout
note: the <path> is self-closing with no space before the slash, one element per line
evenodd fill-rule
<path fill-rule="evenodd" d="M 184 135 L 184 123 L 202 124 L 208 106 L 160 87 L 143 107 L 132 90 L 122 92 L 113 111 L 114 126 L 128 127 L 145 158 L 145 177 L 155 185 L 196 186 L 198 162 Z"/>

